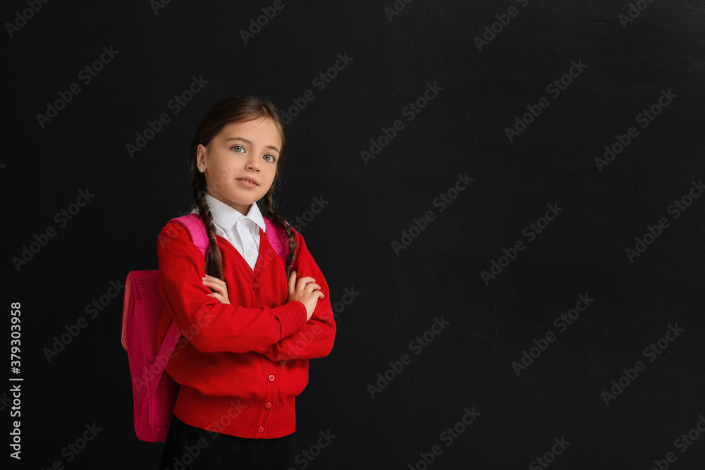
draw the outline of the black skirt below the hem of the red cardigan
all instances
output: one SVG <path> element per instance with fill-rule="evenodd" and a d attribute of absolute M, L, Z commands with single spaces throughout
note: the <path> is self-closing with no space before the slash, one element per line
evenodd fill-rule
<path fill-rule="evenodd" d="M 296 435 L 247 439 L 190 426 L 176 416 L 159 470 L 297 470 Z"/>

